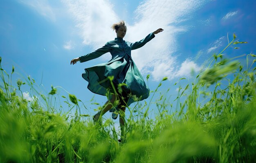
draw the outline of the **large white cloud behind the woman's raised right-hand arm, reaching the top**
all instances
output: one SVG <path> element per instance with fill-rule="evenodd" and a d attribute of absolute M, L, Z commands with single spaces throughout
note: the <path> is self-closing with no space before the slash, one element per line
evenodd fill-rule
<path fill-rule="evenodd" d="M 140 4 L 135 11 L 136 23 L 128 31 L 128 40 L 131 42 L 141 40 L 149 32 L 158 28 L 164 31 L 147 43 L 146 47 L 132 51 L 141 73 L 150 73 L 154 80 L 167 76 L 169 79 L 175 77 L 173 74 L 179 68 L 175 52 L 177 51 L 176 36 L 189 30 L 187 26 L 177 26 L 179 22 L 186 21 L 186 16 L 198 9 L 204 3 L 203 0 L 147 0 Z M 181 73 L 180 73 L 181 74 Z"/>

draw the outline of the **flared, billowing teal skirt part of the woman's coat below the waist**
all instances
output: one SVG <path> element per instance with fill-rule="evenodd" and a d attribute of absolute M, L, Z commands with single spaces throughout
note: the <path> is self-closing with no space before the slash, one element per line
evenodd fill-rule
<path fill-rule="evenodd" d="M 111 76 L 114 88 L 109 79 Z M 132 58 L 127 54 L 107 63 L 85 68 L 82 77 L 88 81 L 87 88 L 93 93 L 111 98 L 110 93 L 115 93 L 115 89 L 118 95 L 128 98 L 128 106 L 149 96 L 148 86 Z"/>

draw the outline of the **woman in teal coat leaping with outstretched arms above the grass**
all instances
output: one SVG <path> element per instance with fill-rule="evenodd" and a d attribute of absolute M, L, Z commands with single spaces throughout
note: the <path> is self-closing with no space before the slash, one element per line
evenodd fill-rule
<path fill-rule="evenodd" d="M 92 53 L 72 59 L 70 64 L 76 64 L 78 61 L 86 62 L 107 52 L 111 53 L 112 59 L 109 62 L 85 68 L 85 73 L 82 74 L 82 77 L 88 81 L 89 90 L 108 97 L 108 101 L 106 101 L 102 110 L 93 116 L 94 122 L 101 122 L 102 115 L 117 106 L 118 110 L 121 111 L 119 122 L 121 139 L 123 139 L 126 107 L 135 101 L 148 98 L 149 95 L 148 86 L 146 86 L 143 77 L 132 60 L 131 50 L 144 46 L 155 37 L 155 34 L 162 32 L 163 29 L 157 29 L 135 43 L 123 40 L 127 31 L 123 20 L 113 24 L 112 29 L 117 33 L 115 40 L 107 42 L 102 48 Z M 113 118 L 115 119 L 115 115 Z"/>

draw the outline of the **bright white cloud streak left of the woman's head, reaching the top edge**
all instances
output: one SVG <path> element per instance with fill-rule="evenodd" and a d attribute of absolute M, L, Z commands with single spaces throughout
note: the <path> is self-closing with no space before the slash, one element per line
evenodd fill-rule
<path fill-rule="evenodd" d="M 115 38 L 110 29 L 119 18 L 107 0 L 63 0 L 76 21 L 83 44 L 100 48 Z"/>

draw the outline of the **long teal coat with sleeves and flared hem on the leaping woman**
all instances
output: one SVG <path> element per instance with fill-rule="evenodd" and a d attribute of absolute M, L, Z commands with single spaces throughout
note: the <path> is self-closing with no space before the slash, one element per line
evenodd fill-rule
<path fill-rule="evenodd" d="M 79 57 L 80 62 L 86 62 L 107 52 L 112 55 L 112 59 L 107 63 L 85 68 L 85 73 L 82 74 L 82 77 L 88 81 L 87 88 L 93 93 L 109 96 L 109 91 L 113 90 L 107 77 L 112 76 L 112 82 L 116 87 L 115 89 L 119 91 L 119 95 L 129 97 L 128 106 L 135 101 L 148 98 L 150 90 L 132 60 L 131 50 L 144 46 L 154 37 L 155 35 L 150 33 L 144 39 L 134 43 L 125 41 L 122 38 L 115 38 L 115 40 L 107 42 L 96 51 Z M 122 90 L 117 88 L 120 83 L 126 84 L 122 86 Z"/>

